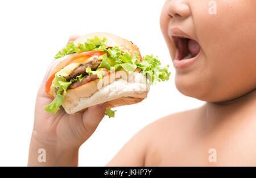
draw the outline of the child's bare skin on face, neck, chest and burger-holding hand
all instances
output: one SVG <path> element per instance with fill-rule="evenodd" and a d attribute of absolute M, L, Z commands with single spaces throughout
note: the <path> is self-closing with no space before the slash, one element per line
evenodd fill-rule
<path fill-rule="evenodd" d="M 176 47 L 168 36 L 170 28 L 180 28 L 201 45 L 195 63 L 176 69 L 175 84 L 185 96 L 206 103 L 146 126 L 123 146 L 108 166 L 256 165 L 256 1 L 216 0 L 216 15 L 208 13 L 208 2 L 168 0 L 160 17 L 172 60 Z M 61 124 L 71 118 L 63 111 L 57 119 L 41 113 L 43 104 L 49 102 L 41 97 L 42 87 L 36 101 L 28 165 L 77 165 L 79 147 L 101 121 L 104 105 L 75 116 L 71 127 L 70 123 Z M 94 113 L 100 110 L 102 115 Z M 94 119 L 86 119 L 91 115 Z M 81 120 L 86 121 L 85 127 L 90 126 L 89 132 L 78 129 L 77 122 Z M 36 161 L 41 147 L 50 150 L 47 163 Z M 217 162 L 209 162 L 210 148 L 216 150 Z"/>

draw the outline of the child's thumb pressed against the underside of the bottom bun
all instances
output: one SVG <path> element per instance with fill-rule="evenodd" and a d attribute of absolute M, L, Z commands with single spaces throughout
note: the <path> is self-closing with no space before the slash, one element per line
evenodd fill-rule
<path fill-rule="evenodd" d="M 88 109 L 85 110 L 82 118 L 86 130 L 96 130 L 98 124 L 101 122 L 102 118 L 104 118 L 105 112 L 105 104 L 88 107 Z"/>

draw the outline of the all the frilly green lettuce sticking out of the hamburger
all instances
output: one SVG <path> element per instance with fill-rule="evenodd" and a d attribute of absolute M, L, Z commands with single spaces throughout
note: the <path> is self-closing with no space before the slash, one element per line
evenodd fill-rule
<path fill-rule="evenodd" d="M 97 74 L 98 78 L 102 80 L 105 75 L 105 72 L 102 68 L 106 68 L 108 71 L 118 71 L 119 69 L 124 69 L 126 72 L 131 73 L 134 72 L 135 69 L 139 68 L 142 71 L 150 84 L 155 84 L 156 81 L 166 81 L 170 78 L 170 72 L 168 72 L 169 65 L 161 66 L 158 57 L 147 55 L 143 57 L 143 61 L 139 62 L 139 52 L 135 52 L 135 55 L 131 55 L 129 52 L 122 52 L 119 47 L 108 48 L 105 45 L 106 42 L 105 37 L 94 36 L 91 39 L 86 40 L 85 43 L 79 43 L 76 46 L 73 42 L 69 42 L 65 48 L 57 53 L 55 58 L 63 57 L 65 55 L 69 55 L 71 53 L 83 52 L 83 51 L 104 51 L 105 55 L 101 56 L 101 64 L 96 69 L 96 71 L 92 71 L 90 67 L 86 68 L 86 75 L 80 75 L 76 78 L 72 78 L 72 80 L 67 81 L 63 76 L 55 76 L 55 81 L 53 82 L 53 86 L 57 89 L 57 94 L 52 103 L 46 106 L 45 110 L 50 113 L 56 113 L 59 110 L 60 105 L 62 105 L 65 101 L 65 94 L 67 94 L 67 90 L 69 86 L 72 85 L 76 81 L 82 81 L 84 77 L 92 74 Z M 112 110 L 106 110 L 106 115 L 110 117 L 114 117 L 114 112 Z"/>

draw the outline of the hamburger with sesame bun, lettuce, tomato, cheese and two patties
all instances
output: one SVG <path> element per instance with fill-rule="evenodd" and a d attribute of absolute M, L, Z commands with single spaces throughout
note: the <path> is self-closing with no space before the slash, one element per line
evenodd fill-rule
<path fill-rule="evenodd" d="M 141 56 L 139 48 L 119 36 L 96 32 L 69 42 L 59 51 L 51 67 L 45 92 L 53 98 L 45 107 L 68 114 L 105 103 L 106 115 L 113 107 L 137 104 L 147 97 L 150 85 L 166 81 L 170 72 L 157 57 Z"/>

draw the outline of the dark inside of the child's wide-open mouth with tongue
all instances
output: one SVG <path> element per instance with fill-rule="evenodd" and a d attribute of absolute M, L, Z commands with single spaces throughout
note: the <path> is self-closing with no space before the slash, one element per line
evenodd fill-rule
<path fill-rule="evenodd" d="M 183 36 L 172 36 L 177 48 L 176 60 L 191 59 L 201 51 L 201 46 L 195 40 Z"/>

